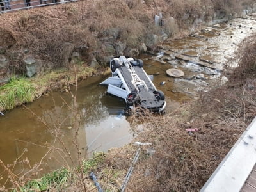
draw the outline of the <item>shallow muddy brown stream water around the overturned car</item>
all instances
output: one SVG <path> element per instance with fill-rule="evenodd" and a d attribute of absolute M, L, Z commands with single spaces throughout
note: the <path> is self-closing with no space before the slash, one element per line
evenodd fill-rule
<path fill-rule="evenodd" d="M 250 29 L 251 27 L 253 29 Z M 154 84 L 166 96 L 166 111 L 179 108 L 180 103 L 195 99 L 195 93 L 202 91 L 202 84 L 207 91 L 220 81 L 221 70 L 218 70 L 218 74 L 209 75 L 212 70 L 205 70 L 200 66 L 198 68 L 195 63 L 177 60 L 175 56 L 198 59 L 198 62 L 201 57 L 201 60 L 225 64 L 234 54 L 236 45 L 255 32 L 255 29 L 255 20 L 235 19 L 221 24 L 220 28 L 207 28 L 194 36 L 165 42 L 161 46 L 163 57 L 141 55 L 145 70 L 148 74 L 154 74 Z M 236 63 L 229 65 L 232 67 Z M 184 71 L 185 76 L 178 79 L 168 77 L 168 68 L 179 68 Z M 195 76 L 200 73 L 205 73 L 208 79 L 198 82 Z M 81 115 L 77 141 L 82 157 L 88 157 L 94 151 L 121 147 L 134 138 L 130 131 L 129 118 L 122 115 L 124 100 L 106 94 L 106 86 L 98 85 L 104 79 L 106 77 L 87 78 L 79 83 L 77 89 L 77 109 Z M 165 84 L 160 85 L 163 81 Z M 74 92 L 74 88 L 71 89 Z M 21 106 L 0 116 L 0 159 L 5 164 L 13 164 L 13 161 L 21 156 L 15 165 L 15 173 L 24 173 L 30 169 L 29 164 L 33 166 L 39 162 L 42 164 L 40 168 L 43 169 L 40 173 L 51 172 L 65 163 L 72 165 L 61 144 L 63 142 L 72 158 L 76 159 L 76 129 L 72 127 L 74 114 L 68 106 L 72 106 L 70 93 L 51 92 L 27 104 L 26 108 L 29 110 Z M 61 142 L 56 140 L 55 130 L 59 130 Z M 6 178 L 2 168 L 0 175 Z M 0 183 L 3 184 L 4 179 L 0 180 Z"/>

